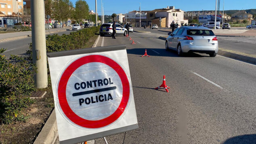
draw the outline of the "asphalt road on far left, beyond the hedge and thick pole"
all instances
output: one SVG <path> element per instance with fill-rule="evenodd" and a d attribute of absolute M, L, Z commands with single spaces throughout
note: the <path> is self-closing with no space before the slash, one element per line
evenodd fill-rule
<path fill-rule="evenodd" d="M 53 34 L 69 34 L 72 31 L 62 31 Z M 10 57 L 11 54 L 13 55 L 26 55 L 26 50 L 29 48 L 29 44 L 32 42 L 32 38 L 24 38 L 20 40 L 13 40 L 8 42 L 0 42 L 0 48 L 5 48 L 6 51 L 3 53 L 7 58 Z"/>

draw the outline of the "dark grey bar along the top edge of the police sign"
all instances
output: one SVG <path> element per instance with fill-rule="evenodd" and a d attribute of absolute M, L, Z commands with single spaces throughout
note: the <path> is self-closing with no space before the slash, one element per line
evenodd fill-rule
<path fill-rule="evenodd" d="M 108 51 L 125 50 L 125 49 L 126 49 L 126 45 L 102 46 L 102 47 L 96 47 L 96 48 L 83 48 L 83 49 L 78 49 L 78 50 L 50 52 L 50 53 L 47 53 L 47 56 L 49 58 L 52 58 L 52 57 L 59 57 L 59 56 L 70 56 L 70 55 L 76 55 L 76 54 L 88 54 L 88 53 L 93 53 L 93 52 L 108 52 Z"/>

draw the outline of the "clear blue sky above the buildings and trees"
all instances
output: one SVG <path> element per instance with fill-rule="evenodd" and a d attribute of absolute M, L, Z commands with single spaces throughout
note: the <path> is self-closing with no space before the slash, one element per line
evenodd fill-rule
<path fill-rule="evenodd" d="M 77 0 L 71 1 L 75 6 Z M 95 12 L 95 0 L 86 0 L 86 2 L 90 10 Z M 105 15 L 125 14 L 126 11 L 128 13 L 128 11 L 139 10 L 140 2 L 141 10 L 175 6 L 184 11 L 192 11 L 215 10 L 216 0 L 102 0 Z M 224 10 L 256 9 L 256 0 L 224 0 L 224 2 Z M 220 10 L 223 10 L 223 0 L 220 0 Z M 97 0 L 97 11 L 101 15 L 101 0 Z"/>

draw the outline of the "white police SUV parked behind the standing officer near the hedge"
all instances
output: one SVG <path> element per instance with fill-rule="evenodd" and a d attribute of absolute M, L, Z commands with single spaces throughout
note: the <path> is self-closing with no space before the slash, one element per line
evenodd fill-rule
<path fill-rule="evenodd" d="M 113 33 L 113 27 L 112 27 L 113 23 L 103 23 L 103 25 L 101 25 L 100 27 L 100 35 L 104 36 L 104 35 L 112 35 Z M 116 35 L 124 35 L 126 36 L 127 34 L 127 29 L 122 27 L 122 25 L 116 23 Z"/>

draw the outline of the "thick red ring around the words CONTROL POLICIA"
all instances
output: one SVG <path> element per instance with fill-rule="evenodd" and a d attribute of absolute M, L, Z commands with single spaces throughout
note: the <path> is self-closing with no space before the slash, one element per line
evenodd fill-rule
<path fill-rule="evenodd" d="M 67 82 L 70 78 L 70 76 L 73 74 L 76 69 L 78 69 L 80 66 L 85 65 L 87 63 L 93 63 L 93 62 L 98 62 L 98 63 L 104 63 L 111 67 L 112 69 L 115 70 L 116 73 L 118 73 L 118 76 L 121 79 L 122 86 L 123 86 L 123 97 L 120 102 L 120 105 L 118 106 L 118 109 L 109 117 L 106 117 L 105 119 L 97 120 L 97 121 L 90 121 L 87 119 L 83 119 L 76 115 L 72 111 L 72 109 L 69 107 L 69 104 L 67 102 L 66 98 L 66 88 L 67 88 Z M 101 56 L 101 55 L 89 55 L 89 56 L 84 56 L 82 58 L 77 59 L 73 63 L 71 63 L 63 72 L 61 75 L 61 78 L 59 80 L 59 86 L 58 86 L 58 98 L 59 98 L 59 104 L 61 106 L 61 109 L 63 113 L 67 116 L 69 120 L 71 120 L 73 123 L 76 123 L 77 125 L 80 125 L 82 127 L 86 128 L 100 128 L 100 127 L 105 127 L 114 121 L 116 121 L 124 112 L 128 100 L 130 96 L 130 84 L 129 80 L 127 78 L 126 73 L 122 69 L 122 67 L 113 61 L 111 58 L 108 58 L 106 56 Z"/>

